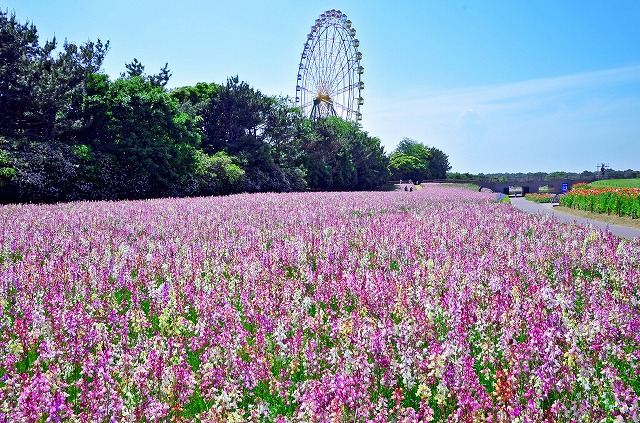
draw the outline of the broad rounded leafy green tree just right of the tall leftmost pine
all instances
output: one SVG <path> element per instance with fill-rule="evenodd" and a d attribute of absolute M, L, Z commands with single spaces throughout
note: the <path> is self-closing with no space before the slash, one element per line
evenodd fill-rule
<path fill-rule="evenodd" d="M 188 194 L 199 144 L 196 120 L 143 75 L 113 82 L 93 75 L 89 81 L 83 110 L 92 124 L 85 136 L 101 156 L 100 171 L 111 179 L 110 196 Z"/>

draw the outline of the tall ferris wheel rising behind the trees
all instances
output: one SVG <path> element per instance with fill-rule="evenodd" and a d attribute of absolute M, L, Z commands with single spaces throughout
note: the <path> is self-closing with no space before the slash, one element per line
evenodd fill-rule
<path fill-rule="evenodd" d="M 341 11 L 328 10 L 316 19 L 302 50 L 296 85 L 296 105 L 306 116 L 362 119 L 359 46 L 355 28 Z"/>

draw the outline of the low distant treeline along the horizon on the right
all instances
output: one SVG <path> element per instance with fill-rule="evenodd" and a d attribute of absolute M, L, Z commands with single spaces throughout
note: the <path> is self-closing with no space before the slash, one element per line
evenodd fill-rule
<path fill-rule="evenodd" d="M 578 172 L 529 172 L 529 173 L 459 173 L 452 172 L 447 173 L 447 179 L 452 180 L 493 180 L 496 182 L 502 181 L 514 181 L 514 182 L 526 182 L 526 181 L 554 181 L 558 179 L 566 179 L 570 181 L 578 180 L 592 180 L 592 179 L 629 179 L 640 177 L 640 171 L 627 169 L 627 170 L 614 170 L 614 169 L 600 169 L 596 171 L 585 170 Z"/>

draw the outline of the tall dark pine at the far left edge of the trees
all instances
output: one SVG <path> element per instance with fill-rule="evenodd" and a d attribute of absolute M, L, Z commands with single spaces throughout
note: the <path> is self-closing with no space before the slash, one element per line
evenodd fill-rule
<path fill-rule="evenodd" d="M 54 57 L 57 47 L 55 38 L 40 47 L 33 24 L 0 11 L 0 133 L 65 141 L 82 124 L 74 111 L 109 43 L 65 41 Z"/>

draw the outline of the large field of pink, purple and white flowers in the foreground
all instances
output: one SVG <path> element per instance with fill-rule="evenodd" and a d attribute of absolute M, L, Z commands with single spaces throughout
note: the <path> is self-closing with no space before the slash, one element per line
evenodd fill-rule
<path fill-rule="evenodd" d="M 640 241 L 492 200 L 0 207 L 0 421 L 638 421 Z"/>

